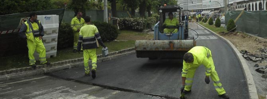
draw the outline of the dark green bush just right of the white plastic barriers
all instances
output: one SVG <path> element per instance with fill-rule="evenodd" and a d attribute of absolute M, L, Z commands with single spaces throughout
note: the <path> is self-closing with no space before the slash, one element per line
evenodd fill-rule
<path fill-rule="evenodd" d="M 58 29 L 58 50 L 73 46 L 73 32 L 69 23 L 62 22 Z"/>

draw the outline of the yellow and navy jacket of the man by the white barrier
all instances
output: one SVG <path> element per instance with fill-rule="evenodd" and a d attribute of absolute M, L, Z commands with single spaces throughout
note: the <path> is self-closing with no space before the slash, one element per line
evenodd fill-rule
<path fill-rule="evenodd" d="M 44 36 L 44 28 L 39 20 L 31 23 L 30 20 L 24 22 L 20 28 L 19 35 L 22 38 L 27 38 L 34 42 L 34 37 Z"/>

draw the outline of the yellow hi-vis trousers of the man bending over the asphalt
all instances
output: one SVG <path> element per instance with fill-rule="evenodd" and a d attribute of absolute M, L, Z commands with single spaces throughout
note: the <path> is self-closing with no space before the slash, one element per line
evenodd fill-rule
<path fill-rule="evenodd" d="M 210 56 L 209 58 L 209 62 L 211 64 L 211 74 L 210 77 L 212 79 L 212 81 L 214 82 L 213 85 L 215 87 L 215 90 L 217 91 L 218 95 L 222 95 L 225 93 L 225 90 L 222 87 L 222 83 L 220 82 L 220 79 L 218 77 L 218 74 L 215 70 L 215 66 L 213 63 L 213 59 L 212 56 Z M 198 67 L 193 67 L 193 66 L 189 66 L 188 68 L 188 72 L 186 75 L 186 79 L 185 79 L 185 90 L 190 91 L 193 85 L 193 77 L 195 75 L 196 69 Z"/>

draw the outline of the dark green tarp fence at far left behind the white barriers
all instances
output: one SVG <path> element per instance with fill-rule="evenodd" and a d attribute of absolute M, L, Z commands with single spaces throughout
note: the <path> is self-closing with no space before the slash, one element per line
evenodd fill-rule
<path fill-rule="evenodd" d="M 18 30 L 21 26 L 22 18 L 29 17 L 31 12 L 15 13 L 0 16 L 0 56 L 14 55 L 19 53 L 27 53 L 26 40 L 18 37 Z M 36 11 L 37 15 L 59 15 L 61 22 L 64 9 L 52 9 L 44 11 Z"/>

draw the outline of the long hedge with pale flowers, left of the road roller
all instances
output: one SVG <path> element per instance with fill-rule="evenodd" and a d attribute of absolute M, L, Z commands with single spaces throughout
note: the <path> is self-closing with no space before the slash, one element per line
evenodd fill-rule
<path fill-rule="evenodd" d="M 151 25 L 155 25 L 157 19 L 155 17 L 144 18 L 120 18 L 119 27 L 122 30 L 142 31 L 150 29 Z"/>

